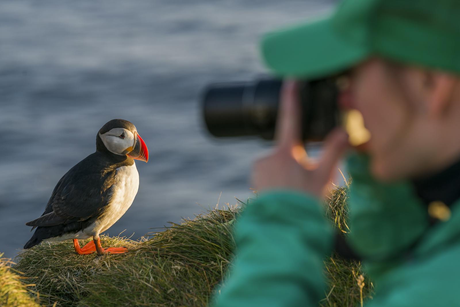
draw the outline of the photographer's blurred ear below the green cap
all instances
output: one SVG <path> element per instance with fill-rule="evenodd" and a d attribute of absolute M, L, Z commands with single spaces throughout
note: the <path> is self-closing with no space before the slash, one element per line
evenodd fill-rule
<path fill-rule="evenodd" d="M 428 91 L 428 112 L 430 116 L 442 116 L 449 109 L 457 79 L 450 74 L 435 71 L 426 76 Z"/>

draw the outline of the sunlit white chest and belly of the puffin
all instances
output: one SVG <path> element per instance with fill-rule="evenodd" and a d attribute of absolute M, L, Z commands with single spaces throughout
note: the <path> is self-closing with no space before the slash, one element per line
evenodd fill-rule
<path fill-rule="evenodd" d="M 138 193 L 138 187 L 139 174 L 136 163 L 116 169 L 110 203 L 107 205 L 104 214 L 96 221 L 95 230 L 98 233 L 106 231 L 125 214 Z"/>

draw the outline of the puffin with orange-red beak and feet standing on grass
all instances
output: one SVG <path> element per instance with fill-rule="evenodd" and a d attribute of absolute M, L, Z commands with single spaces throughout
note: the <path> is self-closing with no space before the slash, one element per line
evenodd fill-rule
<path fill-rule="evenodd" d="M 113 119 L 98 131 L 96 152 L 78 162 L 57 182 L 45 212 L 27 222 L 35 232 L 24 245 L 73 240 L 75 252 L 121 254 L 124 247 L 101 246 L 99 234 L 109 229 L 131 206 L 138 192 L 134 160 L 147 162 L 149 151 L 131 122 Z M 92 237 L 80 247 L 79 239 Z"/>

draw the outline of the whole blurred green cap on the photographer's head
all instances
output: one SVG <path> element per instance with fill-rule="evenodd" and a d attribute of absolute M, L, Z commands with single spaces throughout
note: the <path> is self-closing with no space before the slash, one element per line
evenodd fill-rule
<path fill-rule="evenodd" d="M 459 0 L 344 0 L 310 23 L 265 35 L 277 75 L 321 77 L 381 56 L 460 74 Z"/>

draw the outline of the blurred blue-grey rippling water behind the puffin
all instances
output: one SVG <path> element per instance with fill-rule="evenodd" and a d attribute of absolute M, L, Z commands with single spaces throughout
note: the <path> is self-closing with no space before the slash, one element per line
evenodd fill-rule
<path fill-rule="evenodd" d="M 247 199 L 261 140 L 216 140 L 201 120 L 209 82 L 266 72 L 260 36 L 333 0 L 0 1 L 0 252 L 32 235 L 57 181 L 95 151 L 105 122 L 136 125 L 132 207 L 107 233 L 138 238 L 204 208 Z M 222 193 L 222 195 L 220 195 Z"/>

